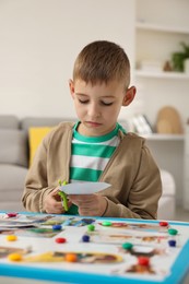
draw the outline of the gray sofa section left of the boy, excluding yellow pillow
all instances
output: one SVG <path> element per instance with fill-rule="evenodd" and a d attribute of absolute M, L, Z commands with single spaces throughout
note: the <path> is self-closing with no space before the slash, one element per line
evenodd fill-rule
<path fill-rule="evenodd" d="M 28 128 L 54 127 L 63 118 L 0 116 L 0 211 L 23 211 L 21 197 L 28 168 Z"/>

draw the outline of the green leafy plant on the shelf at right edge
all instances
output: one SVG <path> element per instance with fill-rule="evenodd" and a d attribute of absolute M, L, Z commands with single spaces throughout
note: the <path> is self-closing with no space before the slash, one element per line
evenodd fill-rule
<path fill-rule="evenodd" d="M 173 52 L 172 55 L 172 64 L 173 70 L 178 72 L 185 71 L 185 60 L 189 59 L 189 45 L 181 42 L 180 43 L 182 50 Z"/>

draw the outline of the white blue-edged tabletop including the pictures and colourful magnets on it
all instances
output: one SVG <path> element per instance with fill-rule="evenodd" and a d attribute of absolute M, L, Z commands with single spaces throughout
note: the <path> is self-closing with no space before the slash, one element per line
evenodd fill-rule
<path fill-rule="evenodd" d="M 188 275 L 189 223 L 9 213 L 0 213 L 0 276 L 165 284 Z"/>

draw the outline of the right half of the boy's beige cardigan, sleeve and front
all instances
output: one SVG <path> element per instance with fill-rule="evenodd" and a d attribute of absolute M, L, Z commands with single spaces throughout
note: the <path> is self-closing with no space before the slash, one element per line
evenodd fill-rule
<path fill-rule="evenodd" d="M 162 194 L 160 169 L 144 139 L 130 139 L 126 144 L 102 179 L 111 185 L 102 192 L 108 203 L 104 216 L 156 218 Z"/>

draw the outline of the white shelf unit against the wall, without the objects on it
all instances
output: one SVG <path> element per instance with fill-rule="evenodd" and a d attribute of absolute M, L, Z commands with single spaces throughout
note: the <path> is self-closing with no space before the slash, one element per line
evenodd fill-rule
<path fill-rule="evenodd" d="M 142 114 L 155 128 L 158 110 L 164 106 L 175 107 L 181 122 L 189 117 L 189 74 L 163 71 L 172 54 L 179 51 L 180 43 L 189 44 L 188 0 L 135 0 L 135 70 L 134 80 Z M 141 68 L 141 61 L 157 62 L 157 68 Z M 155 64 L 154 64 L 155 66 Z M 173 174 L 177 188 L 177 202 L 189 210 L 186 198 L 186 133 L 145 135 L 160 167 Z M 188 150 L 189 153 L 189 150 Z M 188 154 L 189 161 L 189 154 Z M 188 200 L 188 204 L 184 200 Z"/>

